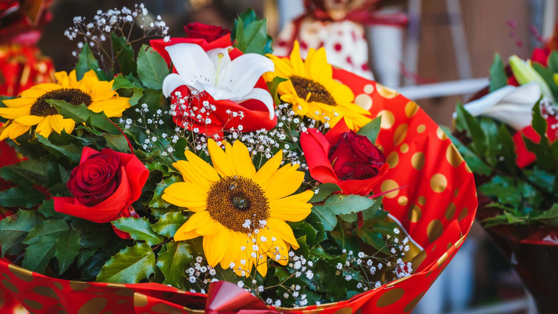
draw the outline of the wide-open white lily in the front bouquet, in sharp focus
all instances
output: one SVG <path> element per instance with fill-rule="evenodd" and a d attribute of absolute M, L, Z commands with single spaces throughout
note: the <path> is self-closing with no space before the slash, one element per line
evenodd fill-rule
<path fill-rule="evenodd" d="M 230 60 L 227 48 L 204 51 L 196 44 L 165 47 L 176 73 L 163 81 L 163 94 L 169 97 L 177 87 L 186 85 L 195 91 L 206 91 L 216 101 L 229 99 L 241 103 L 248 99 L 263 102 L 273 118 L 273 98 L 263 88 L 254 88 L 263 73 L 275 70 L 273 61 L 259 54 L 244 54 Z"/>

